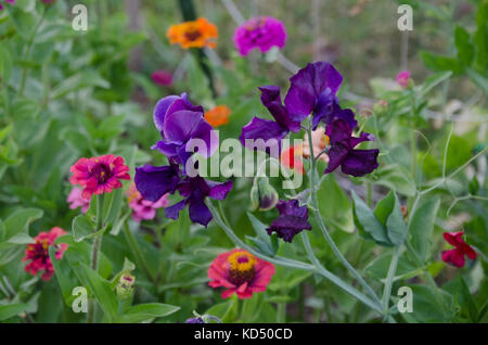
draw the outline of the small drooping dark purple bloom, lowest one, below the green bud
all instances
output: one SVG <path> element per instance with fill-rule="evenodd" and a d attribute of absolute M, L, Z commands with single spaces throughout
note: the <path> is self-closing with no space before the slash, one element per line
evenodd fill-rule
<path fill-rule="evenodd" d="M 285 242 L 292 242 L 293 238 L 303 230 L 311 230 L 308 221 L 307 206 L 299 206 L 298 200 L 290 200 L 277 204 L 280 216 L 266 229 L 269 234 L 273 231 Z"/>

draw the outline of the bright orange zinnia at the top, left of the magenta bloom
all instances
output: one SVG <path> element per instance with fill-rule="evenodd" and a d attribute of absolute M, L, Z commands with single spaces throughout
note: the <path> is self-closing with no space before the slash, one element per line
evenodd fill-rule
<path fill-rule="evenodd" d="M 217 26 L 206 18 L 171 25 L 166 33 L 171 44 L 179 43 L 183 49 L 215 48 L 215 39 L 219 37 Z"/>

